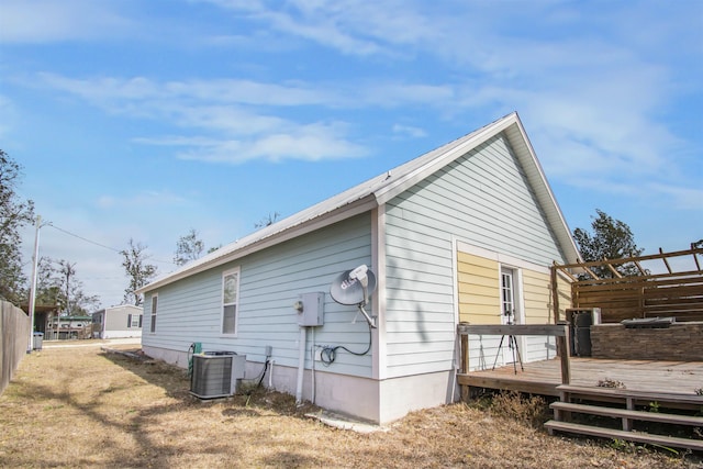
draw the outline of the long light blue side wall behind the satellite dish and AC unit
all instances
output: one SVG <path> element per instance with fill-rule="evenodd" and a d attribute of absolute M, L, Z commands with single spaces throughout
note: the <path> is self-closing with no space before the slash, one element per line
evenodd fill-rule
<path fill-rule="evenodd" d="M 332 281 L 343 271 L 361 264 L 371 265 L 371 215 L 365 213 L 316 232 L 275 245 L 236 261 L 193 275 L 145 293 L 142 345 L 152 357 L 186 367 L 189 346 L 202 343 L 203 350 L 233 350 L 247 356 L 245 379 L 263 369 L 265 347 L 272 347 L 272 384 L 284 392 L 295 391 L 299 366 L 300 327 L 293 303 L 305 292 L 324 293 L 324 325 L 306 328 L 305 373 L 313 367 L 314 345 L 343 345 L 362 351 L 369 343 L 369 328 L 358 319 L 357 308 L 342 305 L 330 297 Z M 236 336 L 221 334 L 222 273 L 238 267 L 239 294 Z M 158 295 L 156 332 L 150 331 L 153 294 Z M 314 344 L 313 344 L 314 339 Z M 323 367 L 316 387 L 316 403 L 346 413 L 364 412 L 378 420 L 378 386 L 369 384 L 371 354 L 352 355 L 337 350 L 334 364 Z M 369 401 L 368 409 L 337 395 L 323 382 L 344 381 L 345 393 L 357 402 Z M 312 399 L 305 381 L 303 399 Z M 366 404 L 365 404 L 366 405 Z"/>

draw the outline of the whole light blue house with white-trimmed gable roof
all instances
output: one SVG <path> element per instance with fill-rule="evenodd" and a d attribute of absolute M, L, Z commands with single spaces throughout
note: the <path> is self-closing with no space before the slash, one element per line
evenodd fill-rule
<path fill-rule="evenodd" d="M 142 345 L 183 367 L 196 342 L 236 351 L 246 378 L 270 359 L 275 389 L 383 424 L 458 398 L 459 322 L 554 322 L 549 266 L 578 257 L 513 113 L 144 287 Z M 361 265 L 377 327 L 330 294 Z M 299 326 L 301 305 L 321 325 Z M 476 354 L 511 361 L 498 339 Z"/>

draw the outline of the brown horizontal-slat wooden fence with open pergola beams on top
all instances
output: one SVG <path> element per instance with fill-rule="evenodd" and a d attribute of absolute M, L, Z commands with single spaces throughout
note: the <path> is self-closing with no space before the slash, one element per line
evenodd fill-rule
<path fill-rule="evenodd" d="M 691 248 L 621 259 L 555 264 L 553 278 L 558 275 L 571 283 L 571 308 L 601 309 L 603 323 L 617 323 L 629 319 L 676 317 L 678 322 L 703 321 L 703 248 Z M 651 273 L 644 263 L 661 263 L 666 271 Z M 679 265 L 685 264 L 683 268 Z M 623 277 L 617 267 L 636 267 L 639 275 Z M 604 278 L 595 271 L 609 271 Z M 559 295 L 553 291 L 555 310 L 559 310 Z"/>

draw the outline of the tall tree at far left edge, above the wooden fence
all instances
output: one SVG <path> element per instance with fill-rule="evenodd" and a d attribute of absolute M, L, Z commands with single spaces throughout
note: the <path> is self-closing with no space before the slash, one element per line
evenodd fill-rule
<path fill-rule="evenodd" d="M 34 221 L 34 202 L 15 192 L 20 177 L 20 165 L 0 149 L 0 298 L 15 304 L 26 297 L 19 230 Z"/>

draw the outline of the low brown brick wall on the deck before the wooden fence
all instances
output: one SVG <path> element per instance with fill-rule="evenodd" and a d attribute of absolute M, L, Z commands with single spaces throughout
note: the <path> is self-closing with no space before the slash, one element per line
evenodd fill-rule
<path fill-rule="evenodd" d="M 669 328 L 591 326 L 593 358 L 703 361 L 703 322 L 674 323 Z"/>

